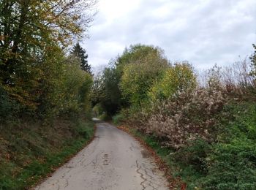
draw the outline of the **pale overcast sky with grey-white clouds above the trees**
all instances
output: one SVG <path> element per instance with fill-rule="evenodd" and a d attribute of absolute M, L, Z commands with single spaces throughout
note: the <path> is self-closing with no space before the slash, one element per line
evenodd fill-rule
<path fill-rule="evenodd" d="M 256 0 L 99 0 L 83 41 L 100 67 L 134 44 L 157 45 L 197 69 L 230 65 L 253 52 Z"/>

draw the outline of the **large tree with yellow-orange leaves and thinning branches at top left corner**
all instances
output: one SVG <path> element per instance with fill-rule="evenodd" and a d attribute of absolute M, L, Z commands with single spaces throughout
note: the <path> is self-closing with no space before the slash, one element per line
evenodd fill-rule
<path fill-rule="evenodd" d="M 0 86 L 12 99 L 35 107 L 42 57 L 55 45 L 82 37 L 94 13 L 94 0 L 1 0 Z"/>

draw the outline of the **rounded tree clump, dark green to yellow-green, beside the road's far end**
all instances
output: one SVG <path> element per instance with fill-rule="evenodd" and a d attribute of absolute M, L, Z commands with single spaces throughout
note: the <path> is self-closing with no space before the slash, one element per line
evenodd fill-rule
<path fill-rule="evenodd" d="M 102 72 L 98 102 L 108 115 L 127 107 L 140 106 L 148 89 L 168 67 L 163 50 L 150 45 L 131 45 Z M 94 80 L 98 84 L 98 80 Z"/>

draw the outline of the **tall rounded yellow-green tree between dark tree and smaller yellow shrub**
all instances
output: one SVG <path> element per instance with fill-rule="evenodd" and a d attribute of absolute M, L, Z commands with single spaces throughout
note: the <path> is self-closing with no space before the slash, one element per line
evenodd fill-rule
<path fill-rule="evenodd" d="M 129 57 L 119 86 L 122 96 L 137 107 L 148 99 L 148 91 L 169 64 L 158 47 L 140 45 Z"/>

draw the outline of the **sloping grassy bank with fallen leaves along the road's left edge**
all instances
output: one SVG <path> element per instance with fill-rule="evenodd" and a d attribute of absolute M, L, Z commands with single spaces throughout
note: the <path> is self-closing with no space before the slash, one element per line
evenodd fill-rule
<path fill-rule="evenodd" d="M 94 123 L 82 120 L 1 126 L 0 189 L 33 186 L 80 151 L 93 136 Z"/>

